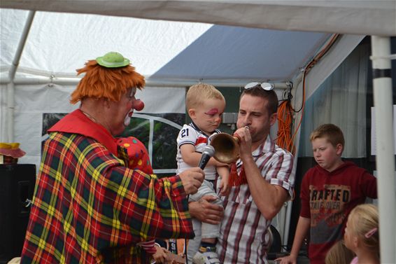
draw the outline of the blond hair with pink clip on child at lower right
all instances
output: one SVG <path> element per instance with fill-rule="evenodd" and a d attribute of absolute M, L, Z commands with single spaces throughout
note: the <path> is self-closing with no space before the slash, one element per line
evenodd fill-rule
<path fill-rule="evenodd" d="M 348 230 L 366 249 L 379 254 L 379 213 L 374 204 L 360 204 L 353 208 L 349 214 Z"/>

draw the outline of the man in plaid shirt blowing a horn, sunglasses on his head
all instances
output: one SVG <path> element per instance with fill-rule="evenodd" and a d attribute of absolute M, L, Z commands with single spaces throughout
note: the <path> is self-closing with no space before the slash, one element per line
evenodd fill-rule
<path fill-rule="evenodd" d="M 240 139 L 239 160 L 230 172 L 231 190 L 223 201 L 224 211 L 210 203 L 212 197 L 190 202 L 193 217 L 208 223 L 221 221 L 217 244 L 221 263 L 267 263 L 271 219 L 292 197 L 292 154 L 269 137 L 277 108 L 272 86 L 245 86 L 234 133 Z"/>

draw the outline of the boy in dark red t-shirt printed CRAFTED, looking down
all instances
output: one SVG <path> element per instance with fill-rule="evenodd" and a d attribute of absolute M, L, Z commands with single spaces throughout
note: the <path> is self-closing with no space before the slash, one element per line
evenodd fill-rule
<path fill-rule="evenodd" d="M 302 242 L 310 231 L 309 260 L 325 264 L 332 245 L 342 239 L 349 212 L 366 197 L 376 198 L 376 178 L 353 162 L 341 159 L 344 134 L 333 124 L 320 125 L 311 133 L 313 157 L 318 165 L 309 169 L 301 185 L 301 211 L 290 256 L 281 264 L 297 263 Z"/>

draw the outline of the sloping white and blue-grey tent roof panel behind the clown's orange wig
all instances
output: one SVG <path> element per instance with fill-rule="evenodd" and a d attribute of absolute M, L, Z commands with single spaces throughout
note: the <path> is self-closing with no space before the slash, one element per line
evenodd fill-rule
<path fill-rule="evenodd" d="M 0 9 L 3 78 L 13 62 L 27 11 Z M 291 81 L 329 34 L 193 22 L 36 12 L 17 74 L 74 77 L 108 51 L 129 58 L 151 80 Z M 17 78 L 18 78 L 17 76 Z"/>

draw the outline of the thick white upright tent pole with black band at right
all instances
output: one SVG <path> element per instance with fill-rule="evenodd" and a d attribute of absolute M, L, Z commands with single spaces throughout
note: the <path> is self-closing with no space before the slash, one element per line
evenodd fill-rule
<path fill-rule="evenodd" d="M 396 263 L 395 140 L 393 138 L 390 38 L 372 36 L 371 39 L 381 263 Z"/>

